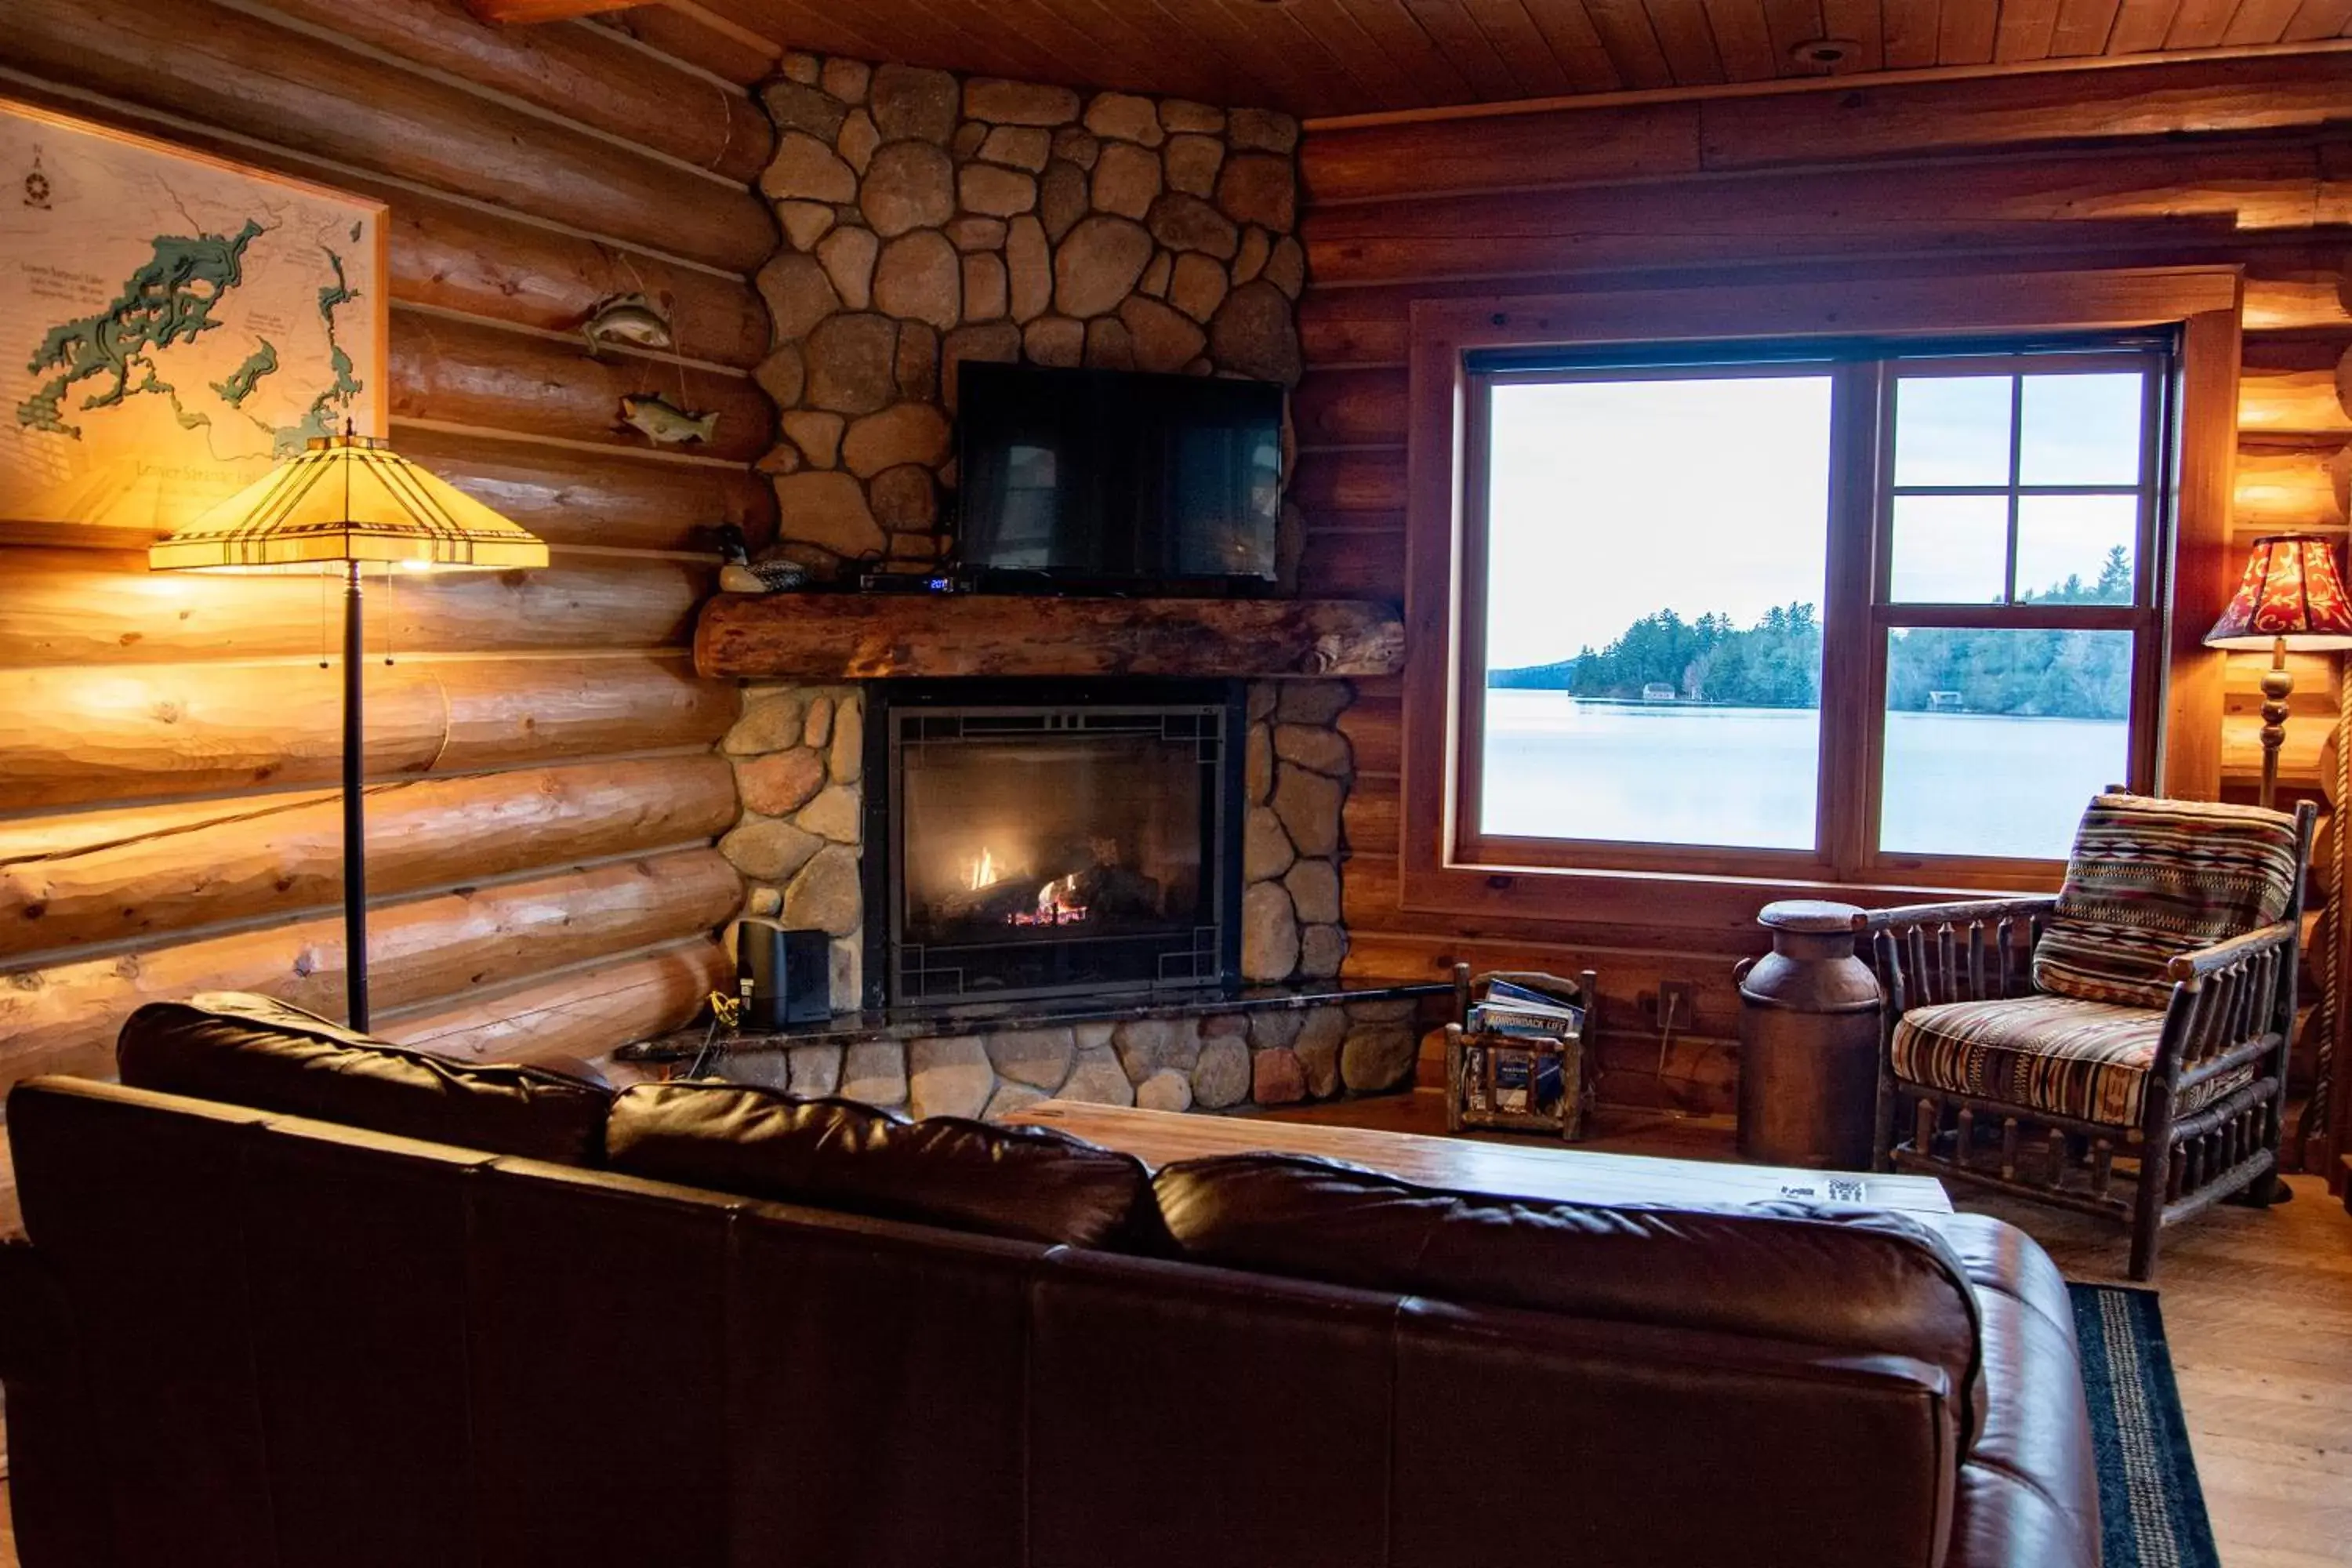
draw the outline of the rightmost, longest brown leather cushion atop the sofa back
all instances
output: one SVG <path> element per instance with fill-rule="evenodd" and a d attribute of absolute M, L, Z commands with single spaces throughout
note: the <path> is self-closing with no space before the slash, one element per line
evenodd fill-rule
<path fill-rule="evenodd" d="M 1966 1265 L 1905 1215 L 1515 1201 L 1303 1154 L 1171 1164 L 1155 1194 L 1174 1246 L 1197 1262 L 1912 1356 L 1950 1375 L 1964 1450 L 1983 1429 Z"/>

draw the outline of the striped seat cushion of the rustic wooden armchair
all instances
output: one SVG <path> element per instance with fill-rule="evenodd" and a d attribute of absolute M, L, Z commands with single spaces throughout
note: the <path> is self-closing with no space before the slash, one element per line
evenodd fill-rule
<path fill-rule="evenodd" d="M 2164 1013 L 2072 997 L 1945 1001 L 1896 1020 L 1893 1067 L 1905 1084 L 1999 1100 L 2077 1121 L 2138 1126 Z M 2206 1079 L 2176 1117 L 2211 1105 L 2253 1065 Z"/>

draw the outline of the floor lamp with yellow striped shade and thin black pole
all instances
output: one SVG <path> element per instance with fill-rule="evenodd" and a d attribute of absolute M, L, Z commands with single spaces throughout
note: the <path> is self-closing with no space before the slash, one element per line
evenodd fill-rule
<path fill-rule="evenodd" d="M 362 574 L 517 571 L 548 548 L 372 435 L 308 447 L 148 550 L 155 571 L 336 571 L 343 578 L 343 976 L 367 1030 L 367 726 Z"/>

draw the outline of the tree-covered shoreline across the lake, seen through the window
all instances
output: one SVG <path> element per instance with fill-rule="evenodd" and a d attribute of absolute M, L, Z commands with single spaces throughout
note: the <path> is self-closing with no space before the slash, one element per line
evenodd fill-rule
<path fill-rule="evenodd" d="M 2096 583 L 2067 576 L 2020 604 L 2129 604 L 2131 559 L 2119 548 Z M 1491 689 L 1566 691 L 1642 701 L 1670 686 L 1677 701 L 1724 708 L 1818 708 L 1820 616 L 1778 604 L 1755 625 L 1731 616 L 1684 621 L 1670 609 L 1635 621 L 1609 646 L 1548 665 L 1491 670 Z M 1886 651 L 1886 705 L 1896 712 L 2002 712 L 2122 719 L 2131 712 L 2131 637 L 2122 632 L 1912 628 Z"/>

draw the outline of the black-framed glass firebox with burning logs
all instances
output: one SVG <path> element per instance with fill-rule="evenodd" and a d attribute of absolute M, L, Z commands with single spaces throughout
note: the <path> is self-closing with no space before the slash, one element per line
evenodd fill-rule
<path fill-rule="evenodd" d="M 868 1006 L 1225 985 L 1237 682 L 868 689 Z"/>

